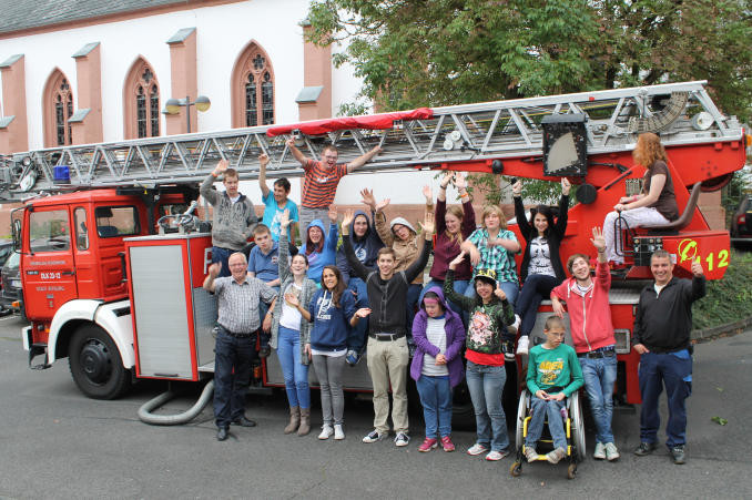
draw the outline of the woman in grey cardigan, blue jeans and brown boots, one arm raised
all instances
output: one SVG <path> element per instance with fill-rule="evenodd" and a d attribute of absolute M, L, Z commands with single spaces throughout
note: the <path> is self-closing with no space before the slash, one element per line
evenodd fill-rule
<path fill-rule="evenodd" d="M 280 220 L 280 290 L 284 299 L 277 299 L 272 316 L 272 338 L 270 346 L 277 350 L 280 366 L 285 379 L 285 390 L 289 402 L 289 424 L 285 433 L 297 431 L 305 436 L 311 431 L 311 389 L 308 388 L 308 356 L 305 346 L 311 335 L 311 323 L 305 318 L 305 307 L 309 304 L 317 286 L 306 277 L 308 258 L 298 253 L 288 264 L 289 211 L 285 210 Z M 289 299 L 287 298 L 289 297 Z"/>

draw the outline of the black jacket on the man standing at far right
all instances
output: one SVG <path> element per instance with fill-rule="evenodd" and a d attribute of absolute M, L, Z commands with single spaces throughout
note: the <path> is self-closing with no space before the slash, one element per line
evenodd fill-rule
<path fill-rule="evenodd" d="M 654 282 L 642 288 L 634 317 L 632 345 L 652 353 L 674 353 L 690 346 L 692 303 L 705 296 L 705 277 L 673 277 L 656 295 Z"/>

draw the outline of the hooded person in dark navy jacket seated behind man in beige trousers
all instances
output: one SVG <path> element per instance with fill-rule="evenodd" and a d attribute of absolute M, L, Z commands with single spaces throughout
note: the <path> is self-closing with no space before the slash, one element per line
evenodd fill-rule
<path fill-rule="evenodd" d="M 378 258 L 378 251 L 384 247 L 382 238 L 374 228 L 373 214 L 369 220 L 365 212 L 355 211 L 355 218 L 349 227 L 349 242 L 353 245 L 355 256 L 366 267 L 375 267 Z M 346 236 L 343 235 L 343 238 Z M 366 282 L 353 274 L 353 269 L 347 262 L 344 247 L 337 251 L 337 267 L 342 273 L 342 278 L 355 296 L 355 305 L 359 309 L 368 307 L 368 290 Z M 360 353 L 366 341 L 366 331 L 368 330 L 368 318 L 360 319 L 350 330 L 347 345 L 349 350 L 345 357 L 348 365 L 355 366 L 360 360 Z"/>

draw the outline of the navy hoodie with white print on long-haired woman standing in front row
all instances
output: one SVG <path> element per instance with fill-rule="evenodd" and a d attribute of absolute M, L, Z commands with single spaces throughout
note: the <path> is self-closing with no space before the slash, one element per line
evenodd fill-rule
<path fill-rule="evenodd" d="M 342 350 L 347 348 L 349 319 L 356 312 L 355 298 L 347 289 L 339 297 L 339 307 L 332 304 L 332 292 L 319 288 L 308 304 L 313 328 L 311 347 L 316 350 Z"/>

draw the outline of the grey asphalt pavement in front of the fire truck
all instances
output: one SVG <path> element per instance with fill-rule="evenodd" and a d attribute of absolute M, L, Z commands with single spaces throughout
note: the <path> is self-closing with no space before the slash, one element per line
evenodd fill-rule
<path fill-rule="evenodd" d="M 190 425 L 153 427 L 139 407 L 165 389 L 139 384 L 116 401 L 82 396 L 67 360 L 30 370 L 16 317 L 0 318 L 0 498 L 752 498 L 752 329 L 701 344 L 695 350 L 689 399 L 688 457 L 674 466 L 664 447 L 650 457 L 639 443 L 639 414 L 620 411 L 613 430 L 622 458 L 588 458 L 573 480 L 567 466 L 526 466 L 509 475 L 511 458 L 486 462 L 469 457 L 475 432 L 457 431 L 457 451 L 420 453 L 420 416 L 411 415 L 410 445 L 384 440 L 364 445 L 372 429 L 367 399 L 348 399 L 344 441 L 285 436 L 285 398 L 251 396 L 247 416 L 258 426 L 233 427 L 215 439 L 211 409 Z M 312 394 L 314 399 L 318 392 Z M 166 405 L 177 412 L 197 398 Z M 664 406 L 664 404 L 663 404 Z M 321 410 L 314 408 L 314 425 Z M 728 420 L 721 426 L 712 420 Z M 664 436 L 661 435 L 663 438 Z M 592 433 L 587 436 L 592 453 Z"/>

